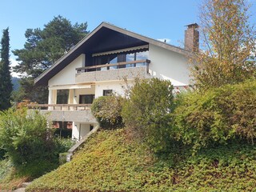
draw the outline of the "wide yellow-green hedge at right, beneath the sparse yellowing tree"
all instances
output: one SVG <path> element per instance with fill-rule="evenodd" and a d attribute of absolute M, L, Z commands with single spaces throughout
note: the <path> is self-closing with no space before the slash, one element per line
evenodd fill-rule
<path fill-rule="evenodd" d="M 256 81 L 194 92 L 179 98 L 176 134 L 194 150 L 230 138 L 256 138 Z"/>

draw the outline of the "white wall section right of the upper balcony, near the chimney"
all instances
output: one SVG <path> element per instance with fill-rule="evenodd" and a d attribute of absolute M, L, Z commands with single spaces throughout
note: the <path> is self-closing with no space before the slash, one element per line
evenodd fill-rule
<path fill-rule="evenodd" d="M 190 71 L 186 56 L 150 44 L 150 74 L 156 78 L 168 79 L 174 86 L 187 86 Z"/>

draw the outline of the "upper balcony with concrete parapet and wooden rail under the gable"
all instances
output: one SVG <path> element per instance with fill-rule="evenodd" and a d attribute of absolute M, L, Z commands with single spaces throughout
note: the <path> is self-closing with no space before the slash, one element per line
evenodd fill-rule
<path fill-rule="evenodd" d="M 149 74 L 150 60 L 139 60 L 132 62 L 118 62 L 114 64 L 86 66 L 76 68 L 76 83 L 82 82 L 103 82 L 134 79 L 150 78 Z"/>

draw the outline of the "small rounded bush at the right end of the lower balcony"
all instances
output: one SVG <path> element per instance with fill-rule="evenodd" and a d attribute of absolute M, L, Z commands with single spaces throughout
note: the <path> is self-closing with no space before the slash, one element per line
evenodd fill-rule
<path fill-rule="evenodd" d="M 102 96 L 94 99 L 91 112 L 104 129 L 122 126 L 122 102 L 120 96 Z"/>

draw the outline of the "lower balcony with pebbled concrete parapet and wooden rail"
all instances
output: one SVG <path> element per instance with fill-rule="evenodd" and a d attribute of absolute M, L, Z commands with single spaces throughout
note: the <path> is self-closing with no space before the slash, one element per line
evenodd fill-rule
<path fill-rule="evenodd" d="M 29 110 L 39 110 L 50 121 L 96 123 L 90 104 L 29 104 Z"/>

